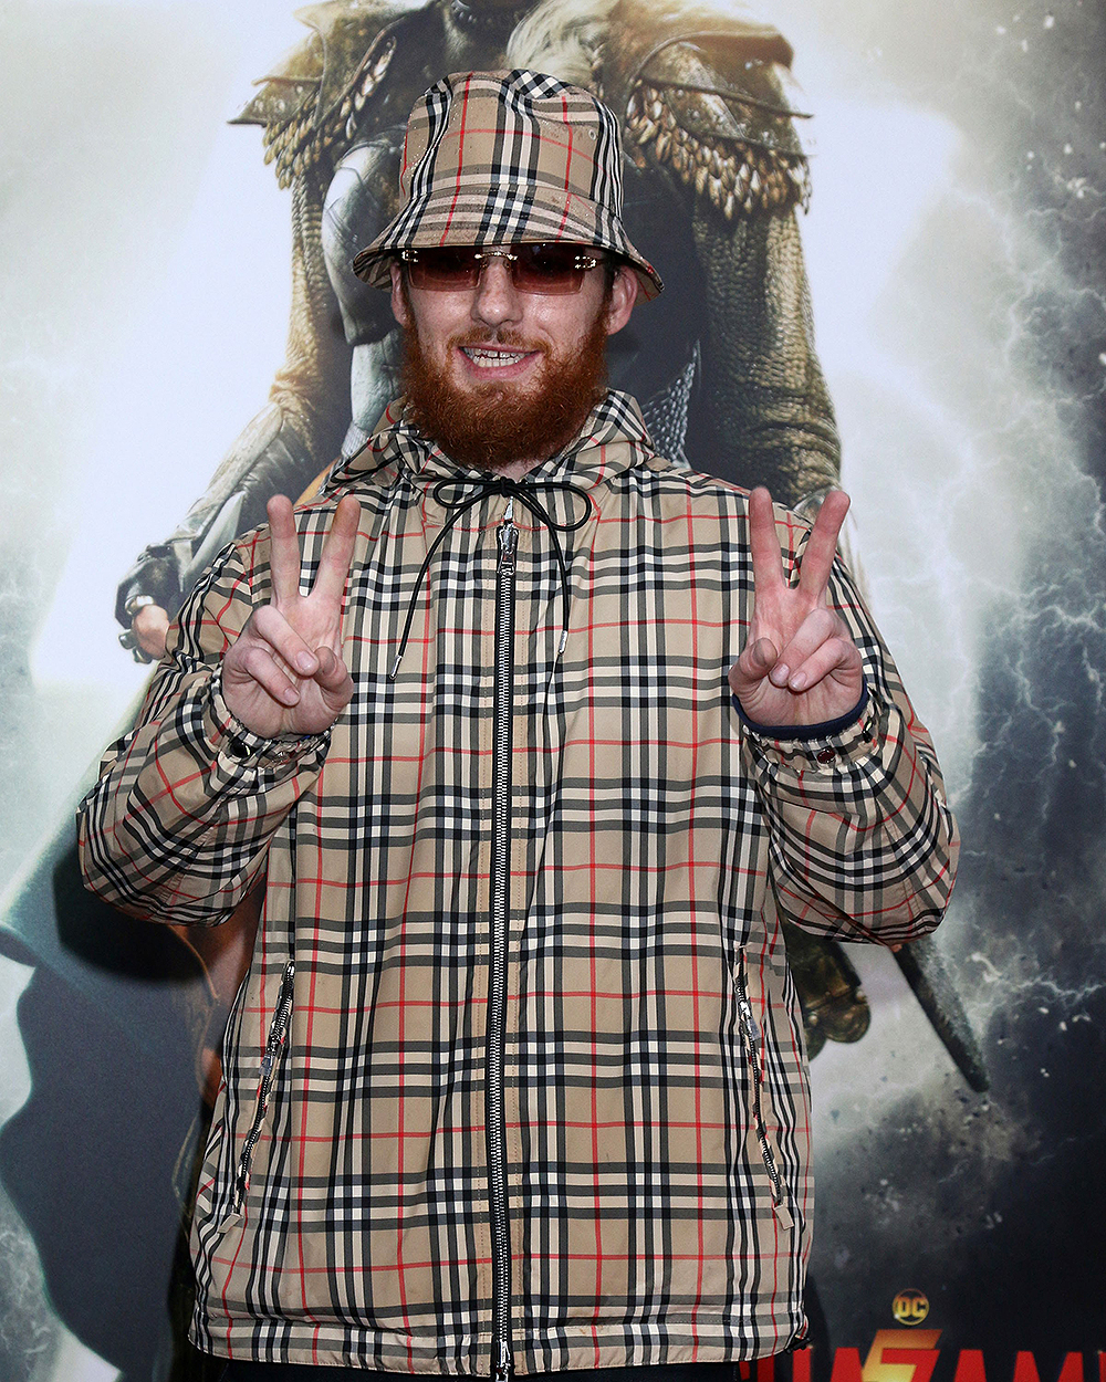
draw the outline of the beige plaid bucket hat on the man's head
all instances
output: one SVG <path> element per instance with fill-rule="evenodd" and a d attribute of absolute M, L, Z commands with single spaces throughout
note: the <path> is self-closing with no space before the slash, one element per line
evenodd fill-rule
<path fill-rule="evenodd" d="M 622 225 L 618 122 L 582 87 L 521 69 L 442 77 L 411 112 L 400 191 L 353 264 L 373 287 L 405 249 L 565 240 L 624 258 L 646 299 L 664 289 Z"/>

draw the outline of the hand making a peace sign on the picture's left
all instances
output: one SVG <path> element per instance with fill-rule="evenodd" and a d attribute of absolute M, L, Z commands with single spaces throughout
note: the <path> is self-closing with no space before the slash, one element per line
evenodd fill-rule
<path fill-rule="evenodd" d="M 311 594 L 300 594 L 300 539 L 292 502 L 270 499 L 272 601 L 256 609 L 223 658 L 223 697 L 267 739 L 321 734 L 341 714 L 354 683 L 341 661 L 341 597 L 361 504 L 347 495 L 322 545 Z"/>

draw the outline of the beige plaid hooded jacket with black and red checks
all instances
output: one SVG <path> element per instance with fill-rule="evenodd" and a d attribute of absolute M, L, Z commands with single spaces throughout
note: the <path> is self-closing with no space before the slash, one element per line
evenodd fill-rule
<path fill-rule="evenodd" d="M 843 569 L 831 600 L 864 656 L 863 713 L 807 739 L 741 724 L 726 670 L 752 596 L 745 493 L 653 455 L 630 399 L 608 395 L 525 485 L 545 517 L 514 504 L 496 1115 L 514 1365 L 770 1354 L 802 1327 L 813 1211 L 780 919 L 846 940 L 929 930 L 954 822 Z M 220 656 L 270 596 L 267 531 L 239 540 L 82 808 L 84 867 L 126 911 L 202 925 L 267 873 L 196 1200 L 196 1342 L 487 1374 L 512 500 L 393 420 L 330 491 L 299 513 L 303 576 L 353 492 L 353 703 L 292 745 L 228 713 Z M 807 528 L 781 510 L 780 533 L 794 572 Z"/>

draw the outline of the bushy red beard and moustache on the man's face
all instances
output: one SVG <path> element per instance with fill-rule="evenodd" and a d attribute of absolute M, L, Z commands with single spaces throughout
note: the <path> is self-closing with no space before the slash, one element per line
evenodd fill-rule
<path fill-rule="evenodd" d="M 536 347 L 545 357 L 541 379 L 525 390 L 495 383 L 459 388 L 426 357 L 418 330 L 406 330 L 401 377 L 408 420 L 462 466 L 498 470 L 556 456 L 607 391 L 606 316 L 604 310 L 574 355 Z M 447 350 L 492 343 L 535 348 L 516 332 L 488 330 L 455 336 Z"/>

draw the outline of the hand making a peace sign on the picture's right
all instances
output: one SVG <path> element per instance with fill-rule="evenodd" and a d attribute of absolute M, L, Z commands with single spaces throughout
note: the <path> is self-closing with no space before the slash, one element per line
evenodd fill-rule
<path fill-rule="evenodd" d="M 824 724 L 847 714 L 864 688 L 860 651 L 827 608 L 827 586 L 849 496 L 831 489 L 803 553 L 799 583 L 784 578 L 771 495 L 749 495 L 753 609 L 730 687 L 756 724 Z"/>

